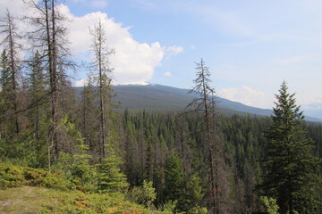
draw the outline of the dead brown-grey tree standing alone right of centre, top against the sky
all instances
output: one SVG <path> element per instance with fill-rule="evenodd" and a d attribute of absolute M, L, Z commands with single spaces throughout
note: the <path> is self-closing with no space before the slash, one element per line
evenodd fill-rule
<path fill-rule="evenodd" d="M 190 93 L 197 94 L 188 106 L 189 112 L 201 112 L 206 129 L 205 151 L 208 152 L 209 208 L 211 213 L 226 213 L 228 207 L 227 173 L 222 150 L 223 137 L 216 120 L 215 89 L 210 86 L 210 71 L 201 59 L 196 62 L 197 78 Z"/>

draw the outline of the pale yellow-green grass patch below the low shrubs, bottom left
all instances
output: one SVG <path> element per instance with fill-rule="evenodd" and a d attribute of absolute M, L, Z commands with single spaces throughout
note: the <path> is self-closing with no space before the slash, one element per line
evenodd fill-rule
<path fill-rule="evenodd" d="M 152 213 L 114 195 L 62 191 L 38 186 L 0 190 L 0 213 Z"/>

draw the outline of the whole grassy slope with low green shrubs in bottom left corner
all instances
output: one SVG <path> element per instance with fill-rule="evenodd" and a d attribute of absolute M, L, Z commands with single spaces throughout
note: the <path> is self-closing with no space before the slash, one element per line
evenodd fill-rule
<path fill-rule="evenodd" d="M 82 192 L 63 176 L 0 162 L 0 213 L 172 212 L 145 209 L 140 204 L 126 201 L 123 193 Z"/>

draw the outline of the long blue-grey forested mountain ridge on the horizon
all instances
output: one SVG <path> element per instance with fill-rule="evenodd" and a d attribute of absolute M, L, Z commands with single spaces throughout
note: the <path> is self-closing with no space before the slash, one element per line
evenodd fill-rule
<path fill-rule="evenodd" d="M 119 85 L 113 86 L 116 94 L 114 102 L 121 102 L 121 109 L 157 109 L 166 111 L 183 110 L 197 95 L 189 94 L 189 89 L 161 85 Z M 77 88 L 80 92 L 81 87 Z M 254 114 L 269 116 L 273 113 L 269 109 L 260 109 L 216 97 L 217 107 L 224 114 Z M 322 119 L 307 117 L 309 121 L 322 122 Z"/>

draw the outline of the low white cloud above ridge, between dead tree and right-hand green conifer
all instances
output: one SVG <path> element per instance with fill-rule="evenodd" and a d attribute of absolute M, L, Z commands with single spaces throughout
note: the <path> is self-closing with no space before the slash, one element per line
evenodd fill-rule
<path fill-rule="evenodd" d="M 256 91 L 249 86 L 223 88 L 218 91 L 218 95 L 231 101 L 259 108 L 270 108 L 273 104 L 273 101 L 267 99 L 264 92 Z"/>

